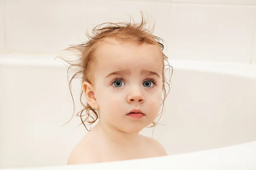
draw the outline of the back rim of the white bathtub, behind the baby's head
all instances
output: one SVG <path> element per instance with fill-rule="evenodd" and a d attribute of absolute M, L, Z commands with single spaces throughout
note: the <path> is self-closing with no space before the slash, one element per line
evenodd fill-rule
<path fill-rule="evenodd" d="M 36 56 L 36 57 L 35 57 Z M 58 55 L 52 54 L 0 54 L 0 66 L 39 66 L 67 69 L 61 59 L 55 59 Z M 75 58 L 74 56 L 65 56 Z M 256 79 L 256 63 L 238 62 L 210 62 L 194 60 L 168 60 L 173 70 L 205 71 L 219 74 L 229 74 L 239 77 Z M 165 67 L 168 68 L 168 67 Z M 172 68 L 166 72 L 171 73 Z"/>

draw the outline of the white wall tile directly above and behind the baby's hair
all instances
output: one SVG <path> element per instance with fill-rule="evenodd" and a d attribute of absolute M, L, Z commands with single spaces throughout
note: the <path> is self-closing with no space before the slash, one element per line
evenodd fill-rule
<path fill-rule="evenodd" d="M 106 8 L 108 7 L 108 8 Z M 97 8 L 97 10 L 95 10 Z M 90 3 L 87 6 L 86 15 L 88 16 L 88 25 L 96 25 L 105 22 L 122 22 L 123 19 L 129 21 L 130 15 L 135 22 L 140 23 L 140 11 L 148 14 L 149 21 L 155 20 L 154 35 L 162 38 L 168 45 L 169 38 L 169 11 L 170 3 L 146 3 L 135 1 L 102 1 L 98 3 Z M 148 26 L 151 26 L 149 24 Z M 165 46 L 166 48 L 166 46 Z"/>

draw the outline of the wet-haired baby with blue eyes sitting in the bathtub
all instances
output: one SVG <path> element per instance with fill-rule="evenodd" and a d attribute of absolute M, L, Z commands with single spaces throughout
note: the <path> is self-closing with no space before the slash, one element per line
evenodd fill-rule
<path fill-rule="evenodd" d="M 80 69 L 72 79 L 82 75 L 87 101 L 78 115 L 83 124 L 98 120 L 72 150 L 67 164 L 166 156 L 159 142 L 139 134 L 156 125 L 167 96 L 167 57 L 161 39 L 144 28 L 143 15 L 138 24 L 105 24 L 93 29 L 88 42 L 67 48 L 81 52 L 79 62 L 70 66 Z"/>

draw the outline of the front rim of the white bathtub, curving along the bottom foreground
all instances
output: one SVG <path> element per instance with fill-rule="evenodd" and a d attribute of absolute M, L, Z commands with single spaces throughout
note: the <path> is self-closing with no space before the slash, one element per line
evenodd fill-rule
<path fill-rule="evenodd" d="M 208 170 L 240 170 L 255 169 L 256 141 L 236 144 L 227 147 L 202 150 L 177 155 L 160 156 L 155 158 L 133 159 L 125 161 L 102 162 L 95 164 L 57 165 L 45 167 L 3 168 L 1 170 L 98 170 L 102 168 L 120 168 L 130 170 L 136 167 L 156 169 L 173 168 L 175 170 L 208 169 Z"/>

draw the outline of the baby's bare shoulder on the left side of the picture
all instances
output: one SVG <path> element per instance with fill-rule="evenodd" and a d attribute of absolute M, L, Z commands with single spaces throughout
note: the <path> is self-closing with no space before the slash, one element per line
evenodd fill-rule
<path fill-rule="evenodd" d="M 79 144 L 71 151 L 67 164 L 90 164 L 101 162 L 98 149 L 95 144 L 84 137 Z"/>

